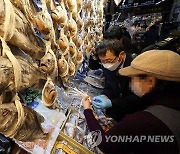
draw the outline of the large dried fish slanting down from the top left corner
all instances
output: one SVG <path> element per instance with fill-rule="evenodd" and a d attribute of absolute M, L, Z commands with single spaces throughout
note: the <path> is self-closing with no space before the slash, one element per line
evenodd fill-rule
<path fill-rule="evenodd" d="M 37 37 L 25 15 L 9 0 L 0 0 L 0 36 L 31 57 L 45 52 L 44 42 Z"/>

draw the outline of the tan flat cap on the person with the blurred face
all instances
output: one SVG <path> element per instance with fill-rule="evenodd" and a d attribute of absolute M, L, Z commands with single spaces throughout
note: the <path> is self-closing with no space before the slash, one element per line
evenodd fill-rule
<path fill-rule="evenodd" d="M 180 81 L 180 55 L 170 50 L 146 51 L 137 56 L 130 66 L 120 69 L 119 74 L 147 74 L 162 80 Z"/>

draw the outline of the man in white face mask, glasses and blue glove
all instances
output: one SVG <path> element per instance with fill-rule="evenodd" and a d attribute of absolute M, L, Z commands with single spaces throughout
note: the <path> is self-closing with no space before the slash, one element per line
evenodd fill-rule
<path fill-rule="evenodd" d="M 139 106 L 138 97 L 129 88 L 130 78 L 118 74 L 118 70 L 129 66 L 133 58 L 124 51 L 119 40 L 100 42 L 96 46 L 96 53 L 103 69 L 105 88 L 102 95 L 93 98 L 92 104 L 98 109 L 106 109 L 107 115 L 119 121 Z M 89 63 L 90 68 L 97 66 L 91 60 Z"/>

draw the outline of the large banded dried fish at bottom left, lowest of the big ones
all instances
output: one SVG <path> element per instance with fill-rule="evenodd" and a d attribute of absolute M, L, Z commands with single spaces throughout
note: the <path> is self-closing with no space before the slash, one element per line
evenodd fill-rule
<path fill-rule="evenodd" d="M 40 125 L 43 117 L 21 102 L 1 104 L 0 115 L 0 133 L 7 137 L 23 142 L 47 137 Z"/>

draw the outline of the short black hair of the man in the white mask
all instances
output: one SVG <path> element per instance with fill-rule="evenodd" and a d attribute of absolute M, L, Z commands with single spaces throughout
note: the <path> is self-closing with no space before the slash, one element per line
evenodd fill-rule
<path fill-rule="evenodd" d="M 117 40 L 104 40 L 96 45 L 96 53 L 98 56 L 105 56 L 110 50 L 115 56 L 119 56 L 121 51 L 124 51 L 123 44 Z"/>

